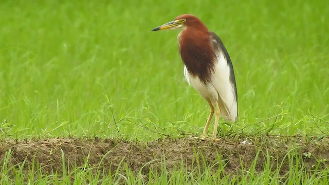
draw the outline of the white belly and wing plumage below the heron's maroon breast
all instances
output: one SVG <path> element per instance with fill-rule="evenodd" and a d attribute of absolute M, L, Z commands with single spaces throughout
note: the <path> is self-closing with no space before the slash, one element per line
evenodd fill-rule
<path fill-rule="evenodd" d="M 211 82 L 207 85 L 202 83 L 198 77 L 192 76 L 184 66 L 184 76 L 200 95 L 210 100 L 214 107 L 216 103 L 221 110 L 221 117 L 234 122 L 237 118 L 237 100 L 234 95 L 234 86 L 230 82 L 230 66 L 226 62 L 223 53 L 216 53 L 216 63 Z"/>

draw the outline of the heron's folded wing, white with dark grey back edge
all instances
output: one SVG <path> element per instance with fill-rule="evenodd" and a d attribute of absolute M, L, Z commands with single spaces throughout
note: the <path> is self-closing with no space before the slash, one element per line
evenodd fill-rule
<path fill-rule="evenodd" d="M 220 105 L 221 116 L 234 122 L 237 119 L 237 92 L 233 65 L 221 39 L 211 32 L 210 40 L 216 54 L 211 84 L 220 96 L 218 104 Z"/>

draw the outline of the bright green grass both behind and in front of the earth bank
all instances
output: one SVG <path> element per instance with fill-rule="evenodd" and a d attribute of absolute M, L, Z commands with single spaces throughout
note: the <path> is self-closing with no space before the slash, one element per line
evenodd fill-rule
<path fill-rule="evenodd" d="M 221 121 L 218 135 L 327 137 L 326 4 L 320 0 L 1 1 L 0 136 L 3 140 L 99 137 L 154 141 L 200 135 L 208 104 L 185 81 L 178 31 L 151 32 L 179 14 L 192 13 L 221 37 L 235 70 L 239 120 L 234 124 Z M 5 155 L 0 156 L 6 163 Z M 291 168 L 287 176 L 304 174 L 299 170 L 304 168 Z M 76 179 L 79 175 L 98 179 L 89 172 L 72 174 Z M 323 179 L 303 172 L 306 175 L 299 182 L 328 181 L 328 169 L 321 171 Z M 27 173 L 16 176 L 18 181 L 28 178 L 38 183 L 33 181 L 33 171 Z M 153 176 L 153 182 L 179 184 L 192 179 L 207 184 L 211 177 L 207 169 L 200 179 L 186 173 L 183 168 L 169 177 L 184 177 L 184 181 L 166 181 L 162 171 Z M 106 173 L 101 182 L 116 183 L 114 174 Z M 127 174 L 127 183 L 142 183 L 133 173 Z M 279 175 L 264 170 L 253 178 L 242 173 L 233 179 L 242 184 L 243 180 L 265 183 L 260 180 L 270 176 L 271 183 L 280 184 L 276 181 Z M 232 176 L 216 178 L 226 179 L 224 183 Z M 54 173 L 36 179 L 69 183 L 70 178 Z M 285 183 L 294 184 L 293 178 L 287 179 L 291 181 Z M 15 182 L 11 180 L 3 178 L 2 182 Z"/>

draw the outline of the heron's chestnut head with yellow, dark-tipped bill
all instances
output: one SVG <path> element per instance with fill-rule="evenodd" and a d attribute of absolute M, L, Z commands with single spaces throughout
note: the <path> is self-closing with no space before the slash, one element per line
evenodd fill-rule
<path fill-rule="evenodd" d="M 165 29 L 186 29 L 189 27 L 207 27 L 194 15 L 182 14 L 175 18 L 174 21 L 163 24 L 159 27 L 154 28 L 152 31 L 165 30 Z"/>

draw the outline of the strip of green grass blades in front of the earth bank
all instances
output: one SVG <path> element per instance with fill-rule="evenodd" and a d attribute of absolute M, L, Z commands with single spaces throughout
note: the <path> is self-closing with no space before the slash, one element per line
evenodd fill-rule
<path fill-rule="evenodd" d="M 22 181 L 27 181 L 29 184 L 328 184 L 329 170 L 320 170 L 317 167 L 310 172 L 299 161 L 303 160 L 296 155 L 295 149 L 287 153 L 291 163 L 289 171 L 286 175 L 280 175 L 281 165 L 274 171 L 270 171 L 272 163 L 270 156 L 267 153 L 267 159 L 264 163 L 263 172 L 255 172 L 255 165 L 250 168 L 239 169 L 242 171 L 238 175 L 226 175 L 224 167 L 225 161 L 217 158 L 215 163 L 210 168 L 204 171 L 200 169 L 207 167 L 206 162 L 197 163 L 194 169 L 186 169 L 182 163 L 180 167 L 173 169 L 171 175 L 168 174 L 166 169 L 166 161 L 162 161 L 161 172 L 153 171 L 150 169 L 148 175 L 144 175 L 142 170 L 137 174 L 126 165 L 121 164 L 122 168 L 111 172 L 107 169 L 98 167 L 89 167 L 88 161 L 83 167 L 69 169 L 58 173 L 54 172 L 51 175 L 43 174 L 38 166 L 32 165 L 29 168 L 29 173 L 24 174 L 22 169 L 25 161 L 21 165 L 12 165 L 9 162 L 11 151 L 5 154 L 5 160 L 2 163 L 2 184 L 15 183 L 20 184 Z M 202 158 L 202 155 L 195 154 L 196 159 Z M 258 155 L 255 156 L 257 160 Z M 150 161 L 152 162 L 152 161 Z M 63 156 L 63 164 L 64 164 Z M 218 168 L 214 169 L 217 164 Z M 12 175 L 14 174 L 14 175 Z M 26 180 L 28 179 L 28 180 Z"/>

